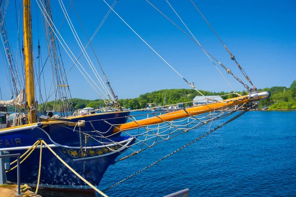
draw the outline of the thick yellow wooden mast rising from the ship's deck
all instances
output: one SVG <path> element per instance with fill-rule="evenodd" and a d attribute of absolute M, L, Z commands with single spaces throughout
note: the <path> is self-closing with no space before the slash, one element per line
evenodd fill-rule
<path fill-rule="evenodd" d="M 36 123 L 36 102 L 34 88 L 34 68 L 33 68 L 33 42 L 32 42 L 32 18 L 31 0 L 23 0 L 23 25 L 24 25 L 24 56 L 25 56 L 25 78 L 26 97 L 28 110 L 28 123 Z"/>

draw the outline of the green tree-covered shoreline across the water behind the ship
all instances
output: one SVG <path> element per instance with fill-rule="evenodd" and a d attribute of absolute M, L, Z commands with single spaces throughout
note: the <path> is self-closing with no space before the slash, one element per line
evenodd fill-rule
<path fill-rule="evenodd" d="M 270 91 L 271 97 L 269 99 L 262 100 L 260 102 L 259 108 L 269 107 L 269 110 L 291 110 L 296 109 L 296 80 L 291 84 L 290 87 L 275 86 L 271 88 L 260 89 L 259 91 Z M 208 92 L 200 91 L 203 95 L 226 95 L 226 92 Z M 246 95 L 246 91 L 239 92 L 241 95 Z M 192 89 L 165 89 L 158 90 L 151 93 L 146 93 L 140 95 L 135 99 L 119 99 L 119 103 L 124 108 L 131 109 L 141 109 L 145 108 L 147 103 L 154 103 L 155 106 L 164 104 L 176 104 L 180 102 L 192 101 L 195 96 L 200 96 L 200 94 Z M 222 99 L 232 98 L 234 95 L 223 96 Z M 41 110 L 52 110 L 59 109 L 58 101 L 50 101 L 45 105 L 42 105 Z M 81 109 L 84 107 L 99 108 L 104 106 L 104 102 L 100 99 L 87 100 L 87 99 L 70 99 L 69 103 L 74 109 Z M 187 105 L 190 105 L 188 103 Z"/>

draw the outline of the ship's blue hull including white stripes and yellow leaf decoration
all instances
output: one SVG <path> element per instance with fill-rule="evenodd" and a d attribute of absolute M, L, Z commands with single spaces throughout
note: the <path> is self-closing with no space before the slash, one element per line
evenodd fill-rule
<path fill-rule="evenodd" d="M 109 136 L 112 133 L 111 125 L 104 122 L 108 120 L 111 124 L 123 124 L 129 112 L 118 112 L 108 114 L 96 114 L 71 119 L 72 122 L 85 120 L 85 127 L 81 132 L 96 135 Z M 112 119 L 112 117 L 116 117 Z M 68 120 L 69 121 L 69 120 Z M 92 125 L 90 124 L 91 121 Z M 11 129 L 0 132 L 0 150 L 7 150 L 11 154 L 23 154 L 38 139 L 43 139 L 67 164 L 82 175 L 93 185 L 99 185 L 105 171 L 116 157 L 134 142 L 133 137 L 122 137 L 120 132 L 108 139 L 102 137 L 88 137 L 86 152 L 84 147 L 84 134 L 81 135 L 83 149 L 81 151 L 78 127 L 50 125 L 42 128 L 41 125 L 27 126 L 20 129 Z M 107 142 L 107 143 L 104 143 Z M 44 147 L 44 146 L 43 146 Z M 12 161 L 12 160 L 11 160 Z M 21 182 L 34 186 L 37 183 L 39 167 L 39 147 L 32 155 L 21 164 Z M 17 169 L 6 173 L 7 180 L 16 182 Z M 89 187 L 62 164 L 47 148 L 42 149 L 42 167 L 40 187 L 65 188 L 65 189 L 88 189 Z"/>

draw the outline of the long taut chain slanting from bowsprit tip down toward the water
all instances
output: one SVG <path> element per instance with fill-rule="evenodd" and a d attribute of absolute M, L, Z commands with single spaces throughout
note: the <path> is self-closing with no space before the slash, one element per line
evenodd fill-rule
<path fill-rule="evenodd" d="M 141 169 L 141 170 L 135 172 L 134 174 L 132 174 L 132 175 L 126 177 L 125 179 L 122 179 L 121 181 L 115 183 L 114 185 L 110 186 L 109 188 L 103 190 L 102 192 L 106 192 L 107 190 L 110 190 L 111 188 L 115 187 L 116 185 L 118 185 L 118 184 L 120 184 L 120 183 L 122 183 L 122 182 L 124 182 L 124 181 L 126 181 L 126 180 L 128 180 L 128 179 L 130 179 L 130 178 L 132 178 L 133 176 L 135 176 L 135 175 L 137 175 L 137 174 L 143 172 L 144 170 L 148 169 L 149 167 L 152 167 L 153 165 L 155 165 L 155 164 L 157 164 L 157 163 L 159 163 L 159 162 L 161 162 L 161 161 L 167 159 L 168 157 L 170 157 L 170 156 L 174 155 L 175 153 L 181 151 L 182 149 L 184 149 L 184 148 L 186 148 L 187 146 L 193 144 L 194 142 L 200 140 L 201 138 L 207 136 L 208 134 L 210 134 L 210 133 L 212 133 L 212 132 L 214 132 L 214 131 L 220 129 L 222 126 L 226 125 L 227 123 L 230 123 L 231 121 L 233 121 L 233 120 L 235 120 L 236 118 L 240 117 L 241 115 L 243 115 L 243 114 L 246 113 L 247 111 L 249 111 L 249 109 L 247 109 L 247 110 L 245 110 L 245 111 L 242 111 L 242 112 L 239 113 L 238 115 L 236 115 L 236 116 L 234 116 L 233 118 L 229 119 L 227 122 L 225 122 L 225 123 L 223 123 L 223 124 L 217 126 L 216 128 L 212 129 L 211 131 L 206 132 L 205 134 L 199 136 L 198 138 L 194 139 L 193 141 L 189 142 L 188 144 L 186 144 L 186 145 L 182 146 L 181 148 L 175 150 L 174 152 L 172 152 L 172 153 L 166 155 L 165 157 L 163 157 L 163 158 L 157 160 L 156 162 L 154 162 L 154 163 L 152 163 L 152 164 L 149 164 L 148 166 L 146 166 L 146 167 L 144 167 L 143 169 Z"/>

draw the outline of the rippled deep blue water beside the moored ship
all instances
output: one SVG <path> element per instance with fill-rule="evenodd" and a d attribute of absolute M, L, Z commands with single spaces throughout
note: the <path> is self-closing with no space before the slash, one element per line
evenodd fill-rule
<path fill-rule="evenodd" d="M 99 189 L 111 186 L 204 132 L 189 131 L 111 165 Z M 296 196 L 296 111 L 247 112 L 106 194 L 162 197 L 185 188 L 190 189 L 191 197 Z M 41 195 L 94 196 L 61 192 Z"/>

